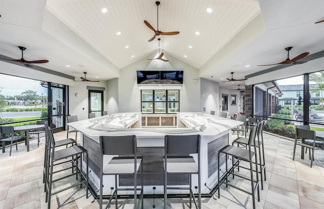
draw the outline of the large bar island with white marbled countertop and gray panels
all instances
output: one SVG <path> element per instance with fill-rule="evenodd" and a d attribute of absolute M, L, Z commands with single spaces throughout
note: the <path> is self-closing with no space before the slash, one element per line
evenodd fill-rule
<path fill-rule="evenodd" d="M 81 144 L 89 152 L 89 178 L 99 188 L 100 173 L 100 136 L 136 135 L 138 154 L 143 156 L 144 194 L 163 194 L 163 156 L 165 135 L 195 135 L 201 136 L 200 165 L 201 192 L 209 193 L 209 188 L 217 184 L 217 151 L 229 143 L 231 129 L 242 124 L 231 120 L 199 112 L 180 112 L 176 116 L 176 128 L 142 128 L 141 113 L 113 113 L 101 117 L 79 120 L 68 123 L 68 126 L 81 133 Z M 104 162 L 109 159 L 104 159 Z M 225 158 L 221 159 L 224 164 Z M 84 167 L 85 168 L 85 167 Z M 170 177 L 170 178 L 169 178 Z M 168 183 L 183 185 L 188 182 L 188 176 L 173 177 L 168 175 Z M 133 184 L 133 176 L 120 176 L 118 185 Z M 139 177 L 140 178 L 140 177 Z M 114 187 L 114 178 L 104 177 L 103 194 L 109 195 Z M 140 182 L 140 181 L 138 181 Z M 193 191 L 197 185 L 197 175 L 192 176 Z M 153 191 L 155 187 L 155 191 Z M 209 188 L 208 188 L 209 187 Z M 169 191 L 168 191 L 169 192 Z M 171 190 L 170 193 L 181 194 L 182 190 Z"/>

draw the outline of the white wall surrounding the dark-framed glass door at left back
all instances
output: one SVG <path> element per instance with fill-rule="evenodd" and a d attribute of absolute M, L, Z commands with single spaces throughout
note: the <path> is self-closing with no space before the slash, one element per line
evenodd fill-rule
<path fill-rule="evenodd" d="M 87 89 L 87 86 L 105 88 L 103 93 L 103 109 L 106 110 L 105 104 L 107 104 L 107 81 L 75 82 L 75 86 L 69 87 L 69 114 L 77 115 L 77 119 L 79 120 L 87 119 L 89 114 L 89 90 Z M 75 96 L 76 93 L 78 94 L 78 97 Z"/>

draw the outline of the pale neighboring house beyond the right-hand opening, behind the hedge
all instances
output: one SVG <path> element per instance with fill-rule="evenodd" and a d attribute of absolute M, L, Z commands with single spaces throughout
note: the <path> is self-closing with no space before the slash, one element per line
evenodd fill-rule
<path fill-rule="evenodd" d="M 298 104 L 298 98 L 301 97 L 301 101 L 304 99 L 304 86 L 303 85 L 282 85 L 280 86 L 282 96 L 279 98 L 281 106 Z M 321 92 L 316 85 L 309 85 L 310 102 L 312 105 L 319 105 L 321 99 Z"/>

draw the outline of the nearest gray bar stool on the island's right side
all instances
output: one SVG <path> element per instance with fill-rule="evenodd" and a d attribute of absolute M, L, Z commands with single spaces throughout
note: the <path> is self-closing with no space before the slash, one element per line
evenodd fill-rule
<path fill-rule="evenodd" d="M 250 132 L 250 137 L 249 137 L 249 142 L 248 142 L 248 147 L 249 149 L 243 149 L 243 148 L 239 148 L 239 147 L 234 147 L 232 145 L 226 145 L 224 146 L 222 149 L 220 149 L 218 151 L 218 198 L 220 198 L 220 184 L 223 183 L 223 184 L 226 184 L 226 187 L 227 186 L 231 186 L 231 187 L 234 187 L 235 189 L 238 189 L 238 190 L 241 190 L 243 192 L 246 192 L 248 194 L 251 194 L 252 195 L 252 200 L 253 200 L 253 208 L 255 208 L 255 193 L 258 192 L 258 201 L 260 201 L 260 190 L 259 190 L 259 175 L 258 175 L 258 166 L 256 166 L 256 173 L 257 173 L 257 180 L 255 181 L 254 180 L 254 177 L 253 177 L 253 156 L 255 156 L 255 153 L 256 153 L 256 147 L 254 146 L 254 151 L 252 151 L 251 149 L 251 144 L 252 144 L 252 141 L 255 141 L 255 136 L 256 136 L 256 127 L 254 129 L 251 130 Z M 225 166 L 226 166 L 226 170 L 225 170 L 225 173 L 223 174 L 222 178 L 220 177 L 220 154 L 223 153 L 225 154 Z M 228 166 L 227 166 L 227 158 L 228 158 L 228 155 L 229 156 L 232 156 L 232 168 L 228 170 Z M 239 160 L 244 160 L 244 161 L 247 161 L 249 162 L 250 164 L 250 168 L 246 168 L 246 167 L 243 167 L 243 166 L 240 166 L 237 164 L 237 162 Z M 256 161 L 256 164 L 258 164 L 258 158 L 257 156 L 255 156 L 255 161 Z M 251 177 L 246 177 L 246 176 L 243 176 L 243 175 L 240 175 L 240 174 L 237 174 L 237 173 L 234 173 L 234 165 L 235 166 L 240 166 L 240 168 L 244 168 L 244 169 L 248 169 L 250 170 L 250 173 L 251 173 Z M 233 178 L 234 176 L 238 176 L 240 178 L 243 178 L 243 179 L 246 179 L 246 180 L 250 180 L 251 181 L 251 188 L 252 188 L 252 192 L 250 192 L 249 190 L 245 190 L 245 189 L 242 189 L 242 188 L 239 188 L 237 186 L 234 186 L 232 184 L 229 184 L 228 183 L 228 176 L 232 174 L 233 175 Z M 225 181 L 222 180 L 223 177 L 225 178 Z M 255 183 L 255 184 L 254 184 Z"/>

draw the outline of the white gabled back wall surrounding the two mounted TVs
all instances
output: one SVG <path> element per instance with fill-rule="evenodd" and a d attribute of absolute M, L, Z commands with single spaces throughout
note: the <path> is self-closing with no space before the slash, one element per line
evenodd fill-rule
<path fill-rule="evenodd" d="M 120 69 L 118 79 L 118 105 L 119 112 L 140 112 L 141 91 L 137 85 L 136 70 L 183 70 L 183 86 L 180 90 L 180 111 L 200 111 L 200 83 L 193 82 L 198 79 L 198 69 L 188 65 L 171 55 L 165 54 L 169 62 L 152 59 L 157 53 Z M 152 89 L 163 89 L 163 86 L 154 86 Z M 169 88 L 169 87 L 168 87 Z"/>

